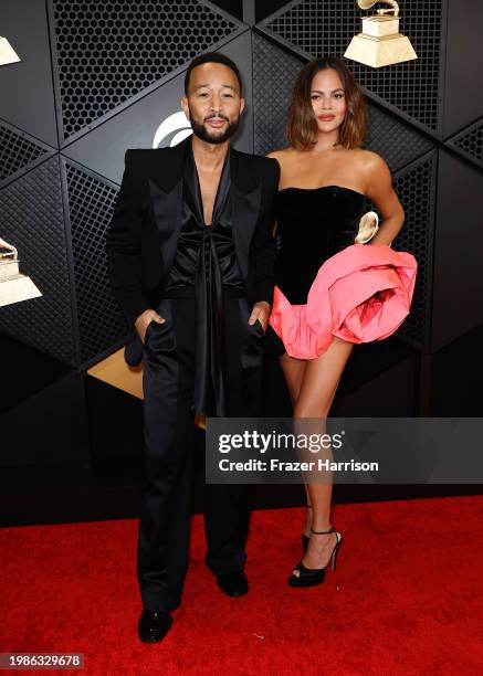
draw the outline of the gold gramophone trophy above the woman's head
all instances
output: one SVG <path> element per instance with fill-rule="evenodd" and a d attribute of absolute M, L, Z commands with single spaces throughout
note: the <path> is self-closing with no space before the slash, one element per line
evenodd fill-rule
<path fill-rule="evenodd" d="M 357 0 L 360 9 L 370 9 L 379 0 Z M 355 35 L 344 56 L 372 68 L 418 59 L 409 39 L 399 32 L 399 6 L 396 0 L 382 0 L 390 8 L 378 9 L 364 17 L 363 32 Z"/>

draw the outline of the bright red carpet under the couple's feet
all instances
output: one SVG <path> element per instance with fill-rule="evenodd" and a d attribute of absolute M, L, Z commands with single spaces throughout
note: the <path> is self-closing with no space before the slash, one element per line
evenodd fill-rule
<path fill-rule="evenodd" d="M 196 517 L 182 608 L 153 645 L 137 638 L 137 520 L 2 529 L 0 652 L 83 652 L 90 675 L 482 674 L 483 497 L 336 506 L 333 521 L 336 572 L 293 590 L 302 510 L 253 514 L 251 591 L 229 599 Z"/>

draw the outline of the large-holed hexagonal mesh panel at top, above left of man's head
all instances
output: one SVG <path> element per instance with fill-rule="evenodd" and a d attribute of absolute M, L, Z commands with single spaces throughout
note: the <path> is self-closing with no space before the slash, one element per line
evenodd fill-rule
<path fill-rule="evenodd" d="M 197 0 L 53 0 L 69 137 L 238 29 Z"/>

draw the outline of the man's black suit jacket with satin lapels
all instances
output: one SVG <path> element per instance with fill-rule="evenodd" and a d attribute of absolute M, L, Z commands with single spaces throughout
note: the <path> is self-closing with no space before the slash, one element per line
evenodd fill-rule
<path fill-rule="evenodd" d="M 111 285 L 130 327 L 157 308 L 181 226 L 182 168 L 189 137 L 174 148 L 127 150 L 106 252 Z M 231 148 L 233 241 L 251 303 L 273 297 L 276 160 Z"/>

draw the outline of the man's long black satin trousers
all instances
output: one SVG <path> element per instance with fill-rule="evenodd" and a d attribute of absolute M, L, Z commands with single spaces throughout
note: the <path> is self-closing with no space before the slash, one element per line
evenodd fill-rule
<path fill-rule="evenodd" d="M 227 415 L 253 415 L 261 392 L 263 329 L 250 326 L 245 297 L 225 298 Z M 148 326 L 144 349 L 145 487 L 138 530 L 137 577 L 143 605 L 177 608 L 188 566 L 193 487 L 196 356 L 195 298 L 164 298 L 165 324 Z M 250 401 L 246 402 L 246 397 Z M 206 563 L 219 575 L 243 569 L 248 534 L 246 487 L 207 485 Z"/>

